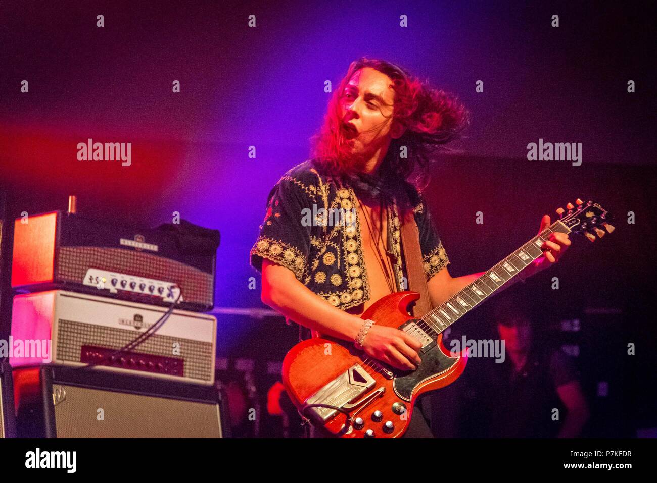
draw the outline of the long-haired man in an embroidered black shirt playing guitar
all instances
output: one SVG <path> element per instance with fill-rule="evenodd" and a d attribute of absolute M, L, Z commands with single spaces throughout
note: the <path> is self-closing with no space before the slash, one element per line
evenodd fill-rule
<path fill-rule="evenodd" d="M 285 173 L 269 194 L 250 251 L 262 274 L 263 303 L 300 324 L 302 339 L 310 329 L 352 341 L 395 368 L 415 369 L 420 343 L 360 314 L 385 295 L 408 289 L 399 228 L 411 207 L 432 306 L 481 275 L 450 276 L 424 196 L 407 182 L 414 173 L 426 177 L 428 160 L 467 123 L 457 100 L 394 64 L 352 62 L 313 138 L 311 160 Z M 545 215 L 541 230 L 549 224 Z M 568 245 L 568 235 L 551 235 L 524 278 L 554 263 Z M 404 436 L 432 437 L 426 406 L 428 398 L 420 397 Z"/>

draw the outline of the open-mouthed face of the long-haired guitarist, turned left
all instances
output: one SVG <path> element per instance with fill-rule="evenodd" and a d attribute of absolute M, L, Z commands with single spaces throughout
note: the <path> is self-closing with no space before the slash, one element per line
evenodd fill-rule
<path fill-rule="evenodd" d="M 391 133 L 395 91 L 392 79 L 371 67 L 357 70 L 340 93 L 342 123 L 351 125 L 353 131 L 341 129 L 354 154 L 367 156 L 379 148 L 387 150 Z"/>

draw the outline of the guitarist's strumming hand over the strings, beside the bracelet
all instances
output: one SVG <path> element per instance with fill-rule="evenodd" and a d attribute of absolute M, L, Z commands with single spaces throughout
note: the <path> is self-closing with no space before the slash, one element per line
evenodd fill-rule
<path fill-rule="evenodd" d="M 370 327 L 363 341 L 365 354 L 403 371 L 415 370 L 422 362 L 418 355 L 420 348 L 420 341 L 404 331 L 376 324 Z"/>

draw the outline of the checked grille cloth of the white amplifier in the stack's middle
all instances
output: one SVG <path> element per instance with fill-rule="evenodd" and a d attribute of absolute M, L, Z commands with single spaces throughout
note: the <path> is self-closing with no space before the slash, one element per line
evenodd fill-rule
<path fill-rule="evenodd" d="M 80 362 L 83 345 L 118 349 L 124 347 L 138 335 L 139 332 L 134 329 L 117 329 L 60 319 L 58 321 L 57 358 Z M 176 342 L 180 345 L 180 355 L 172 353 L 173 343 Z M 209 342 L 191 341 L 156 333 L 151 335 L 146 342 L 134 348 L 133 352 L 183 358 L 185 360 L 185 377 L 202 381 L 212 380 L 214 357 L 212 344 Z"/>

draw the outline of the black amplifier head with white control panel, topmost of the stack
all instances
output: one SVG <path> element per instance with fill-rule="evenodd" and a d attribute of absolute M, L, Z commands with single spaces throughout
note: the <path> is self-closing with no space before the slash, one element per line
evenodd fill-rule
<path fill-rule="evenodd" d="M 146 229 L 53 211 L 14 222 L 11 285 L 207 311 L 218 246 L 217 230 L 184 220 Z"/>

